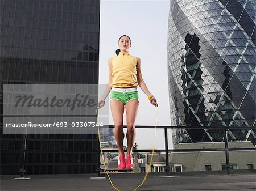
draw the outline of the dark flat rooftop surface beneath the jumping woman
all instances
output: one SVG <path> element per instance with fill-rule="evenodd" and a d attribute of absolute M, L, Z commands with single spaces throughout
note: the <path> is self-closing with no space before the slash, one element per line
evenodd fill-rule
<path fill-rule="evenodd" d="M 1 191 L 110 191 L 108 179 L 90 179 L 90 175 L 30 175 L 30 180 L 12 180 L 18 175 L 1 176 Z M 101 175 L 105 176 L 105 175 Z M 134 190 L 143 180 L 143 174 L 110 174 L 113 184 L 122 191 Z M 138 190 L 256 190 L 255 171 L 148 173 L 146 182 Z"/>

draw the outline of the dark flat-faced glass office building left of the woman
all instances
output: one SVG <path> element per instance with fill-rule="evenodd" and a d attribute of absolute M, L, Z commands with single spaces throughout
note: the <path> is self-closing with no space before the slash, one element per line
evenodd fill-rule
<path fill-rule="evenodd" d="M 6 83 L 98 83 L 99 0 L 0 3 L 1 93 Z M 1 175 L 18 174 L 24 135 L 0 137 Z M 26 173 L 95 173 L 97 148 L 97 134 L 28 134 Z"/>

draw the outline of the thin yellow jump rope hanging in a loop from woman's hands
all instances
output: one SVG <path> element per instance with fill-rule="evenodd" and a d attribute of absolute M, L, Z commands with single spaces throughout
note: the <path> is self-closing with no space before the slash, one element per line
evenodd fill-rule
<path fill-rule="evenodd" d="M 157 106 L 158 107 L 158 106 Z M 159 108 L 158 108 L 159 109 Z M 152 160 L 153 160 L 153 154 L 154 154 L 154 150 L 155 150 L 155 137 L 156 137 L 156 126 L 157 126 L 157 122 L 158 122 L 158 109 L 157 109 L 157 112 L 156 112 L 156 118 L 155 118 L 155 135 L 154 135 L 154 144 L 153 144 L 153 148 L 152 148 L 152 154 L 151 154 L 151 159 L 150 159 L 150 167 L 151 167 L 151 164 L 152 164 Z M 96 116 L 97 116 L 97 122 L 98 122 L 98 108 L 96 109 Z M 97 126 L 98 128 L 98 142 L 100 143 L 100 149 L 101 149 L 101 157 L 102 157 L 102 160 L 103 160 L 103 163 L 104 163 L 104 168 L 105 168 L 105 172 L 106 172 L 106 175 L 108 176 L 108 179 L 110 181 L 110 184 L 112 185 L 112 187 L 117 190 L 117 191 L 121 191 L 119 190 L 112 182 L 110 176 L 109 176 L 109 173 L 106 169 L 106 163 L 105 163 L 105 160 L 104 160 L 104 156 L 103 156 L 103 152 L 102 152 L 102 147 L 101 147 L 101 137 L 100 137 L 100 128 Z M 133 191 L 137 190 L 139 187 L 141 187 L 144 182 L 146 181 L 147 179 L 147 175 L 148 175 L 148 172 L 146 172 L 145 176 L 144 176 L 144 179 L 143 181 L 141 182 L 141 184 L 139 184 Z"/>

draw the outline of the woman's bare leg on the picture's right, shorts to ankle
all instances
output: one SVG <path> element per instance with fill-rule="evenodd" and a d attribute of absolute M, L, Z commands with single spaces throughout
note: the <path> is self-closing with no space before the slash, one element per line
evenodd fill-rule
<path fill-rule="evenodd" d="M 135 120 L 137 116 L 137 111 L 139 107 L 139 101 L 134 99 L 130 100 L 126 103 L 125 105 L 125 111 L 126 111 L 126 116 L 127 116 L 127 133 L 126 133 L 126 138 L 127 138 L 127 155 L 132 154 L 133 150 L 133 145 L 135 141 Z"/>

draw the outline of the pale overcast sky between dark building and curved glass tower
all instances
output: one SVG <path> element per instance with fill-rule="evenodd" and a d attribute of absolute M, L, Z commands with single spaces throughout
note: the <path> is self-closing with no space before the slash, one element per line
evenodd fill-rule
<path fill-rule="evenodd" d="M 167 78 L 167 32 L 170 2 L 101 0 L 100 11 L 100 79 L 108 82 L 108 59 L 115 56 L 118 39 L 131 38 L 130 54 L 141 58 L 142 77 L 148 89 L 158 100 L 158 125 L 170 125 Z M 136 125 L 155 125 L 157 109 L 138 87 L 139 111 Z M 110 113 L 110 125 L 114 125 Z M 124 115 L 126 125 L 126 114 Z M 169 147 L 172 148 L 171 129 Z M 126 129 L 125 129 L 126 133 Z M 126 139 L 126 138 L 125 138 Z M 152 148 L 154 129 L 137 129 L 137 148 Z M 127 145 L 126 141 L 124 145 Z M 164 148 L 164 131 L 158 130 L 155 148 Z"/>

